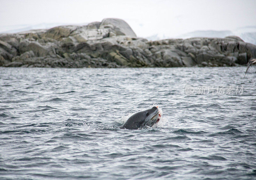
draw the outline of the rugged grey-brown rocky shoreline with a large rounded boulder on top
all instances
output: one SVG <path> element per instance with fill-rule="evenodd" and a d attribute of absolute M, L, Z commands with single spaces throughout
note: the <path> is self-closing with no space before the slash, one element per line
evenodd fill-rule
<path fill-rule="evenodd" d="M 0 34 L 4 67 L 239 66 L 256 58 L 256 45 L 236 36 L 148 41 L 121 19 L 84 26 Z"/>

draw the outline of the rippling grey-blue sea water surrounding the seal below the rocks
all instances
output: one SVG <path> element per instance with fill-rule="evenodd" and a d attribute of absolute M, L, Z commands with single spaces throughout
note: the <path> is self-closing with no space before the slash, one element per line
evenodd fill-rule
<path fill-rule="evenodd" d="M 256 179 L 245 69 L 0 68 L 0 179 Z M 117 128 L 154 105 L 157 125 Z"/>

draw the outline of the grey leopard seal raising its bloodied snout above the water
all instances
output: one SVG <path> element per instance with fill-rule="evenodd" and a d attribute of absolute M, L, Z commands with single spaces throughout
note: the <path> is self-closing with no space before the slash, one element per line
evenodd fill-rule
<path fill-rule="evenodd" d="M 140 111 L 133 114 L 120 129 L 142 129 L 144 127 L 152 127 L 159 121 L 159 110 L 157 107 L 152 107 L 145 111 Z"/>

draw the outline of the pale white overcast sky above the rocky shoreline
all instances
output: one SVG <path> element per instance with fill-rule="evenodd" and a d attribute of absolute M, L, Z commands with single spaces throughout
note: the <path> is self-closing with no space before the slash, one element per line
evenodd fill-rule
<path fill-rule="evenodd" d="M 139 37 L 256 25 L 256 0 L 0 0 L 0 26 L 124 19 Z"/>

